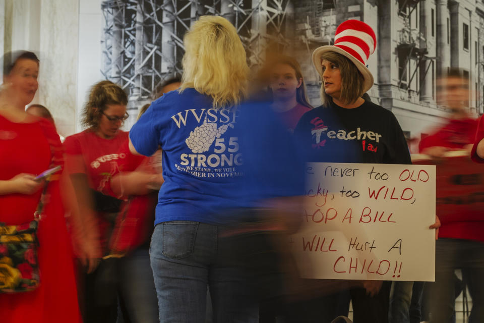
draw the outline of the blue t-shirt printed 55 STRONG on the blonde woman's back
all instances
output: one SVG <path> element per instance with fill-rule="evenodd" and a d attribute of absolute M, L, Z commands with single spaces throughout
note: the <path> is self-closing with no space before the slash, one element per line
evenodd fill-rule
<path fill-rule="evenodd" d="M 130 131 L 136 151 L 163 150 L 165 182 L 155 225 L 185 220 L 223 222 L 221 210 L 237 206 L 230 192 L 241 176 L 242 156 L 234 136 L 236 109 L 215 109 L 210 96 L 193 88 L 155 100 Z"/>

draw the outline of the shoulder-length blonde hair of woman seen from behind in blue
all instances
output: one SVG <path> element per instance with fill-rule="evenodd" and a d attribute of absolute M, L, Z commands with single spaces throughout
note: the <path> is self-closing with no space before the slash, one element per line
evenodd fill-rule
<path fill-rule="evenodd" d="M 180 92 L 195 88 L 221 108 L 247 95 L 249 67 L 235 27 L 225 18 L 202 16 L 183 39 L 185 55 Z"/>

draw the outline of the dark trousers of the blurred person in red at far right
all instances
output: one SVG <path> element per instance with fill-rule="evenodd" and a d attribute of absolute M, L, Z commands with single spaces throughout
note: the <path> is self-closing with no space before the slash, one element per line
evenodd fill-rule
<path fill-rule="evenodd" d="M 429 283 L 432 323 L 454 321 L 454 271 L 459 268 L 472 298 L 469 323 L 484 322 L 484 243 L 444 238 L 435 247 L 435 283 Z"/>

